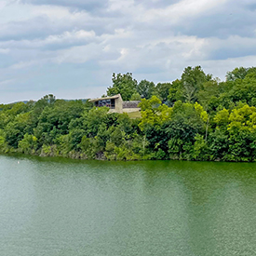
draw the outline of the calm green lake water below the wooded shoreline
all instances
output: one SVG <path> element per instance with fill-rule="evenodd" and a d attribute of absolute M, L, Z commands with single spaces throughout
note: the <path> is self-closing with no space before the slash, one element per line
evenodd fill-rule
<path fill-rule="evenodd" d="M 0 155 L 0 255 L 256 255 L 256 164 Z"/>

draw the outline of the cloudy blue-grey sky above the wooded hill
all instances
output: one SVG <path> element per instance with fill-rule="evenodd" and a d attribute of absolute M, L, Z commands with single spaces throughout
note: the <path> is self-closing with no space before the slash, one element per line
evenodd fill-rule
<path fill-rule="evenodd" d="M 0 0 L 0 103 L 256 66 L 256 0 Z"/>

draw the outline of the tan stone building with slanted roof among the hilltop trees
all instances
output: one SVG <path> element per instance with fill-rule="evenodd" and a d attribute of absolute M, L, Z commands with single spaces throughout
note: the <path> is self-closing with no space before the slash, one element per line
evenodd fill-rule
<path fill-rule="evenodd" d="M 103 97 L 98 99 L 91 99 L 90 102 L 94 103 L 96 107 L 108 107 L 110 113 L 131 113 L 139 112 L 141 109 L 138 104 L 141 101 L 123 101 L 120 94 L 116 94 L 110 97 Z"/>

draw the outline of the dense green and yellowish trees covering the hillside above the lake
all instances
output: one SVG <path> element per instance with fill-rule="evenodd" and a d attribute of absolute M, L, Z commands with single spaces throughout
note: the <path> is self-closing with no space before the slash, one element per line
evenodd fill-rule
<path fill-rule="evenodd" d="M 256 160 L 256 68 L 220 81 L 200 66 L 173 82 L 113 74 L 107 95 L 141 100 L 141 117 L 108 114 L 88 101 L 0 105 L 0 152 L 84 159 Z"/>

